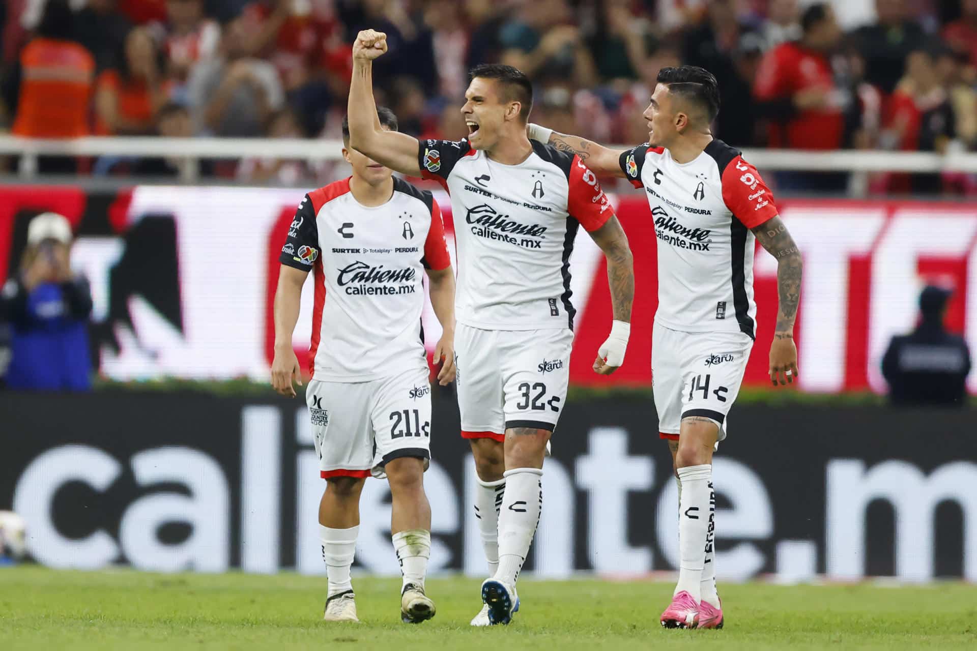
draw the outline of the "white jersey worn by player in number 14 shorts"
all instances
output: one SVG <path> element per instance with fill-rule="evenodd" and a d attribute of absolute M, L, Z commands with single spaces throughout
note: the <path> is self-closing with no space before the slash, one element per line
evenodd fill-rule
<path fill-rule="evenodd" d="M 756 168 L 718 140 L 689 163 L 648 144 L 619 162 L 628 181 L 645 188 L 655 220 L 655 320 L 681 332 L 739 330 L 755 338 L 750 228 L 777 216 Z"/>

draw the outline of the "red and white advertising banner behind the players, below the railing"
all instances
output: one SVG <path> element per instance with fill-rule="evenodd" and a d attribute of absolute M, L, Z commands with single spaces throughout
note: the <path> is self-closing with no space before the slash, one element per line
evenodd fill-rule
<path fill-rule="evenodd" d="M 268 376 L 277 256 L 303 190 L 141 185 L 121 192 L 0 187 L 0 280 L 18 268 L 29 220 L 64 214 L 77 239 L 72 265 L 92 282 L 94 340 L 107 377 L 195 379 Z M 453 237 L 450 201 L 436 197 Z M 577 308 L 572 382 L 651 384 L 658 303 L 658 242 L 643 195 L 612 197 L 634 252 L 637 297 L 624 366 L 590 366 L 611 326 L 600 250 L 582 230 L 571 271 Z M 977 205 L 909 201 L 785 200 L 781 214 L 804 256 L 795 336 L 801 389 L 883 391 L 879 362 L 889 339 L 913 328 L 926 280 L 954 287 L 952 331 L 977 349 Z M 449 242 L 453 244 L 453 242 Z M 454 255 L 453 246 L 449 246 Z M 777 311 L 777 265 L 758 251 L 757 339 L 746 384 L 764 386 Z M 312 283 L 295 333 L 307 354 Z M 429 342 L 440 335 L 425 313 Z M 977 374 L 970 390 L 977 392 Z"/>

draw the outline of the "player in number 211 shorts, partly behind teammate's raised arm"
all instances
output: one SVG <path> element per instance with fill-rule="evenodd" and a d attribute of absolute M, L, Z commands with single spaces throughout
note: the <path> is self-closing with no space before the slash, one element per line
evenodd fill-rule
<path fill-rule="evenodd" d="M 374 111 L 376 114 L 376 111 Z M 384 129 L 397 118 L 381 108 Z M 281 249 L 275 295 L 272 385 L 295 395 L 301 371 L 292 348 L 302 285 L 315 272 L 312 380 L 306 402 L 326 489 L 319 534 L 329 592 L 323 618 L 357 620 L 350 582 L 365 478 L 386 476 L 391 532 L 404 582 L 401 617 L 434 617 L 424 592 L 431 555 L 431 507 L 424 493 L 431 440 L 431 386 L 421 329 L 425 271 L 444 328 L 435 347 L 442 385 L 454 378 L 454 275 L 441 210 L 430 192 L 392 178 L 389 168 L 349 147 L 349 179 L 309 192 Z"/>

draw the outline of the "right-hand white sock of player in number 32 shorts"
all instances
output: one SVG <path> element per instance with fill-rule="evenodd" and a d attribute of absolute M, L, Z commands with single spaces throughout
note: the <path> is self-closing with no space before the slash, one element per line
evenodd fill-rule
<path fill-rule="evenodd" d="M 515 586 L 530 551 L 543 505 L 543 471 L 539 468 L 506 470 L 505 494 L 498 516 L 497 581 Z"/>

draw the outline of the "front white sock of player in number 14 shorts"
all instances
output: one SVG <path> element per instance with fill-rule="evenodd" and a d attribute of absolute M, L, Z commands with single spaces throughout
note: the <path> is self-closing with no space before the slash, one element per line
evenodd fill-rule
<path fill-rule="evenodd" d="M 679 501 L 678 547 L 680 555 L 678 585 L 675 594 L 685 590 L 696 601 L 701 600 L 702 569 L 705 565 L 705 535 L 709 526 L 712 466 L 678 468 L 682 481 Z M 715 508 L 715 498 L 711 500 Z"/>

